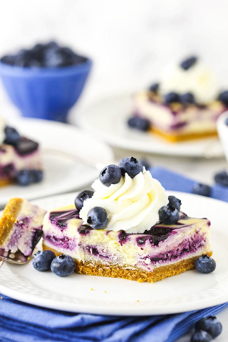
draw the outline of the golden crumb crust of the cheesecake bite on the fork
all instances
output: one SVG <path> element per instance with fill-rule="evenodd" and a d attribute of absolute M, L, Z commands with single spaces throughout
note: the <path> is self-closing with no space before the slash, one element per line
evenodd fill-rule
<path fill-rule="evenodd" d="M 0 218 L 0 246 L 10 233 L 13 225 L 17 222 L 17 215 L 21 210 L 22 202 L 22 198 L 11 198 L 6 204 Z"/>

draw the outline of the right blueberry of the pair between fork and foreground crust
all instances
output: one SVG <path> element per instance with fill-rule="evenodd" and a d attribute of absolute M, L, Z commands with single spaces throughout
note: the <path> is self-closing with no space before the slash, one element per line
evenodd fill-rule
<path fill-rule="evenodd" d="M 52 260 L 51 271 L 59 277 L 66 277 L 75 270 L 75 260 L 69 255 L 59 255 Z"/>

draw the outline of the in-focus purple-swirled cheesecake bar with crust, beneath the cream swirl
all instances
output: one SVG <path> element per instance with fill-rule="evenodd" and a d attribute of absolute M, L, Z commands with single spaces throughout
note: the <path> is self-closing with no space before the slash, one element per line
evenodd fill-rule
<path fill-rule="evenodd" d="M 43 221 L 43 249 L 67 254 L 82 274 L 154 282 L 194 267 L 211 255 L 210 221 L 180 212 L 176 224 L 156 224 L 143 234 L 93 229 L 75 206 L 48 211 Z"/>

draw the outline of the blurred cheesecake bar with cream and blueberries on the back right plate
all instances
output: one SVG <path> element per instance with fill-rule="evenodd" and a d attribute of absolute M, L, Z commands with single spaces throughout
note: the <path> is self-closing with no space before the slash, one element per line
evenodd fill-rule
<path fill-rule="evenodd" d="M 159 83 L 135 96 L 130 127 L 170 142 L 216 135 L 216 120 L 228 108 L 212 73 L 195 56 L 182 61 Z"/>

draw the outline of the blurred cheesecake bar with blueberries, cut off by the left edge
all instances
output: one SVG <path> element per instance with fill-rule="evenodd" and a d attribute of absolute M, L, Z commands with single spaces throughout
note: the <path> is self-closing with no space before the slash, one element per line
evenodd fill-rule
<path fill-rule="evenodd" d="M 29 185 L 43 178 L 39 144 L 0 119 L 0 186 Z"/>

